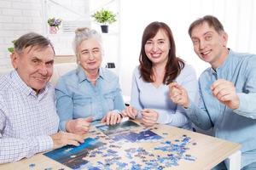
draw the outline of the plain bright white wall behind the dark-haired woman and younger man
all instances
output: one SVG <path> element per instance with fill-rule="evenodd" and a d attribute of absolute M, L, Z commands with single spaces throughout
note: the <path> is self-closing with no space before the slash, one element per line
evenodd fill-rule
<path fill-rule="evenodd" d="M 138 65 L 143 30 L 152 21 L 168 24 L 177 55 L 195 67 L 197 75 L 209 65 L 195 55 L 188 34 L 192 21 L 213 14 L 229 34 L 228 46 L 256 54 L 256 2 L 253 0 L 129 0 L 120 1 L 119 77 L 123 94 L 130 95 L 132 70 Z"/>

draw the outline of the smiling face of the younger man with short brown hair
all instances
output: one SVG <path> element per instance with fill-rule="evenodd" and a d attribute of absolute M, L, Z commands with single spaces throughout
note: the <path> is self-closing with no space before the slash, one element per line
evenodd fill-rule
<path fill-rule="evenodd" d="M 194 45 L 195 54 L 202 60 L 217 68 L 225 58 L 226 43 L 228 36 L 223 31 L 218 33 L 207 22 L 202 23 L 191 32 L 191 39 Z"/>

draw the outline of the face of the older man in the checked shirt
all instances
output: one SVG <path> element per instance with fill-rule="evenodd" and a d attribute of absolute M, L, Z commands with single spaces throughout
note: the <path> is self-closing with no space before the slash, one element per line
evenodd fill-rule
<path fill-rule="evenodd" d="M 54 51 L 47 48 L 27 47 L 12 54 L 12 64 L 20 78 L 37 93 L 46 86 L 53 73 Z"/>

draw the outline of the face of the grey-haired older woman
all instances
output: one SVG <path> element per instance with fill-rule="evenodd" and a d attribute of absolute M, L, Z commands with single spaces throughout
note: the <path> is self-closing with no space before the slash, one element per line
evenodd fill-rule
<path fill-rule="evenodd" d="M 84 71 L 98 71 L 102 64 L 102 47 L 96 38 L 80 43 L 78 47 L 79 63 Z"/>

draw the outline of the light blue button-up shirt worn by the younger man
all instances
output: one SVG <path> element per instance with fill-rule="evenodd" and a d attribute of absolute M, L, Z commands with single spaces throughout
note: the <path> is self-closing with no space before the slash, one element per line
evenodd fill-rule
<path fill-rule="evenodd" d="M 233 82 L 240 106 L 230 110 L 212 96 L 213 82 Z M 256 161 L 256 55 L 230 50 L 228 58 L 216 71 L 208 68 L 199 79 L 201 101 L 191 102 L 189 118 L 203 129 L 213 128 L 216 137 L 241 144 L 241 167 Z"/>

